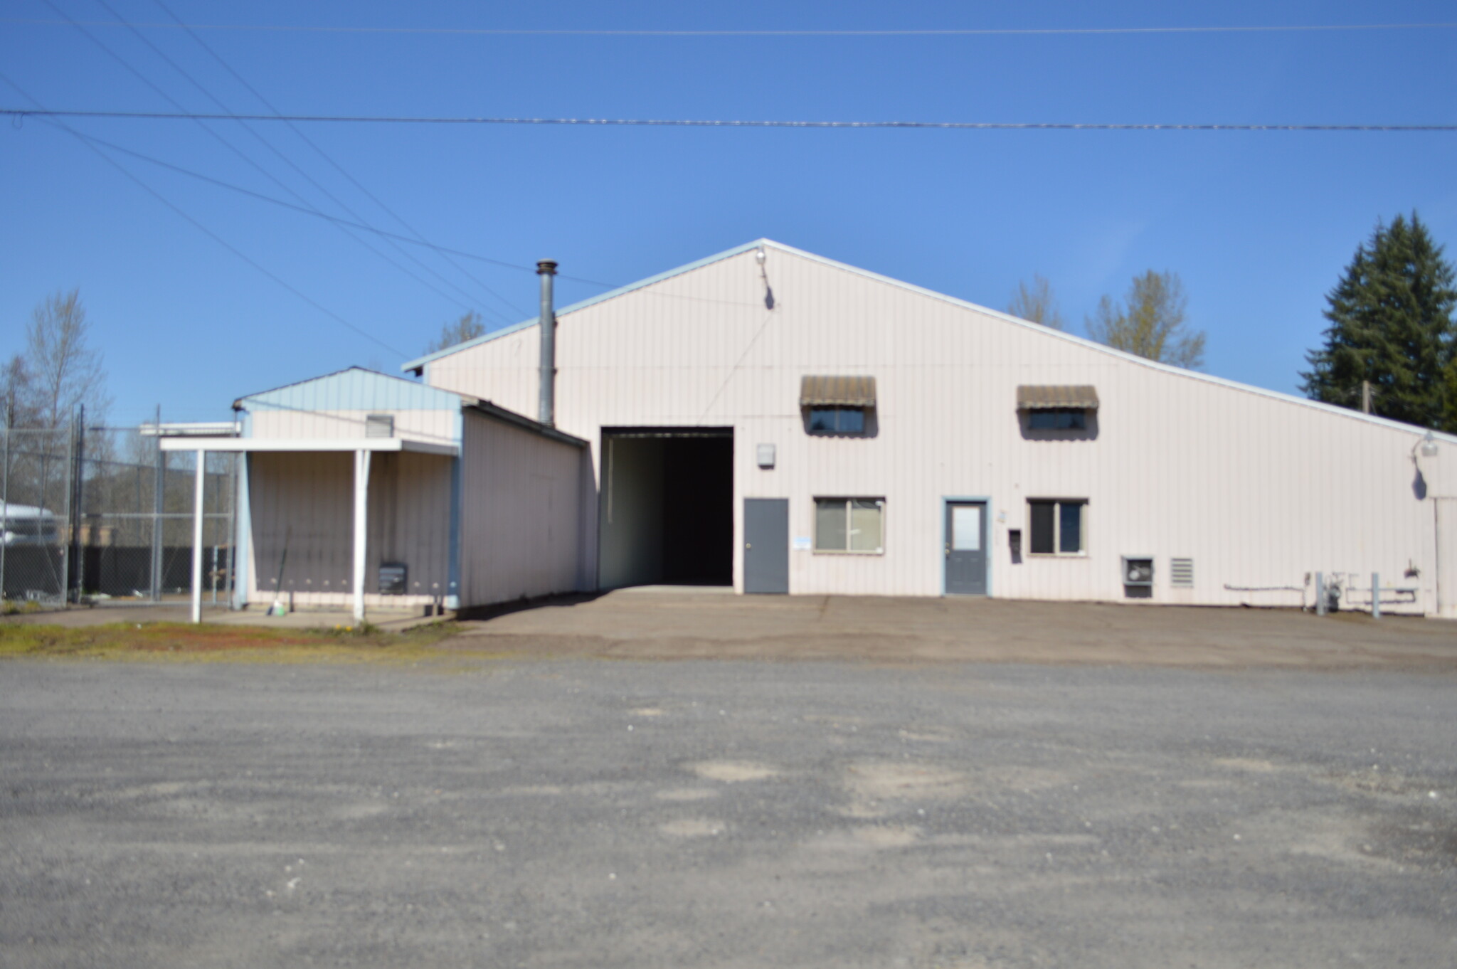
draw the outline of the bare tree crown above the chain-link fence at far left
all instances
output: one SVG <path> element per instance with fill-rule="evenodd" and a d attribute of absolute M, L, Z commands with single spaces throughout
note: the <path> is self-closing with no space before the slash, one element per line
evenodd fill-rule
<path fill-rule="evenodd" d="M 98 418 L 111 404 L 101 353 L 87 344 L 89 335 L 90 323 L 79 290 L 57 290 L 31 313 L 25 334 L 26 366 L 32 407 L 42 427 L 60 427 L 77 404 L 90 407 Z"/>

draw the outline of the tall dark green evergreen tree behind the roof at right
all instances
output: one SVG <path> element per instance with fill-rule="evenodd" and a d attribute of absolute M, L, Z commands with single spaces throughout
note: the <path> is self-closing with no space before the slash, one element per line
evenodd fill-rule
<path fill-rule="evenodd" d="M 1421 427 L 1457 427 L 1453 373 L 1453 267 L 1416 213 L 1377 223 L 1327 296 L 1326 345 L 1305 358 L 1305 395 L 1361 407 L 1371 382 L 1371 411 Z"/>

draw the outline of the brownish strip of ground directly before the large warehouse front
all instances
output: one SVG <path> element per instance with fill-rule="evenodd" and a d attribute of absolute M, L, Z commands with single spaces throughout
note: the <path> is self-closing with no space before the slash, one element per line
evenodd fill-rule
<path fill-rule="evenodd" d="M 627 589 L 459 627 L 530 656 L 1457 669 L 1454 622 L 1285 609 Z"/>

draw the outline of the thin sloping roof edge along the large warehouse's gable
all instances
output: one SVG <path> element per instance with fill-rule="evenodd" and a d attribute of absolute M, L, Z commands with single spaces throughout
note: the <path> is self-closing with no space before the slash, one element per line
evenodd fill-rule
<path fill-rule="evenodd" d="M 892 278 L 889 275 L 881 275 L 879 272 L 871 272 L 870 270 L 861 270 L 860 267 L 849 265 L 848 262 L 838 262 L 836 259 L 830 259 L 830 258 L 826 258 L 826 256 L 822 256 L 822 255 L 816 255 L 813 252 L 806 252 L 804 249 L 796 249 L 794 246 L 788 246 L 788 245 L 784 245 L 782 242 L 775 242 L 772 239 L 765 239 L 765 238 L 759 238 L 759 239 L 755 239 L 753 242 L 746 242 L 743 245 L 737 245 L 737 246 L 734 246 L 731 249 L 724 249 L 723 252 L 715 252 L 711 256 L 705 256 L 702 259 L 695 259 L 694 262 L 686 262 L 686 264 L 683 264 L 680 267 L 676 267 L 673 270 L 667 270 L 666 272 L 659 272 L 659 274 L 650 275 L 650 277 L 647 277 L 644 280 L 638 280 L 637 283 L 628 283 L 627 286 L 619 286 L 615 290 L 609 290 L 606 293 L 599 293 L 597 296 L 584 299 L 584 300 L 573 303 L 570 306 L 564 306 L 564 307 L 561 307 L 561 309 L 557 310 L 557 316 L 558 318 L 559 316 L 565 316 L 567 313 L 574 313 L 574 312 L 577 312 L 580 309 L 587 309 L 589 306 L 594 306 L 597 303 L 603 303 L 603 302 L 606 302 L 609 299 L 616 299 L 618 296 L 627 296 L 628 293 L 632 293 L 634 290 L 641 290 L 644 287 L 653 286 L 654 283 L 661 283 L 663 280 L 670 280 L 675 275 L 682 275 L 683 272 L 689 272 L 692 270 L 698 270 L 701 267 L 711 265 L 714 262 L 720 262 L 723 259 L 740 255 L 743 252 L 750 252 L 750 251 L 758 249 L 761 246 L 762 248 L 769 248 L 769 249 L 778 249 L 781 252 L 787 252 L 790 255 L 800 256 L 801 259 L 809 259 L 810 262 L 819 262 L 820 265 L 826 265 L 826 267 L 830 267 L 830 268 L 835 268 L 835 270 L 841 270 L 844 272 L 852 272 L 852 274 L 860 275 L 863 278 L 876 280 L 879 283 L 884 283 L 886 286 L 893 286 L 893 287 L 900 289 L 900 290 L 909 290 L 912 293 L 919 293 L 921 296 L 927 296 L 927 297 L 931 297 L 934 300 L 940 300 L 943 303 L 951 303 L 953 306 L 960 306 L 963 309 L 970 309 L 970 310 L 975 310 L 978 313 L 982 313 L 983 316 L 992 316 L 992 318 L 1000 319 L 1002 322 L 1013 323 L 1016 326 L 1023 326 L 1023 328 L 1036 331 L 1037 334 L 1040 334 L 1042 337 L 1046 337 L 1049 340 L 1065 340 L 1068 342 L 1078 344 L 1078 345 L 1085 347 L 1088 350 L 1093 350 L 1093 351 L 1097 351 L 1097 353 L 1101 353 L 1101 354 L 1107 354 L 1110 357 L 1116 357 L 1116 358 L 1120 358 L 1120 360 L 1123 360 L 1126 363 L 1132 363 L 1132 364 L 1136 364 L 1136 366 L 1141 366 L 1141 367 L 1148 367 L 1151 370 L 1161 370 L 1164 373 L 1170 373 L 1170 374 L 1174 374 L 1174 376 L 1179 376 L 1179 377 L 1185 377 L 1185 379 L 1189 379 L 1189 380 L 1199 380 L 1199 382 L 1203 382 L 1203 383 L 1212 383 L 1215 386 L 1222 386 L 1222 388 L 1227 388 L 1227 389 L 1231 389 L 1231 391 L 1240 391 L 1243 393 L 1253 393 L 1254 396 L 1263 396 L 1263 398 L 1269 398 L 1269 399 L 1273 399 L 1273 401 L 1284 401 L 1287 404 L 1295 404 L 1295 405 L 1301 405 L 1301 407 L 1308 407 L 1308 408 L 1319 409 L 1319 411 L 1326 411 L 1329 414 L 1335 414 L 1335 415 L 1339 415 L 1339 417 L 1346 417 L 1346 418 L 1351 418 L 1351 420 L 1365 421 L 1365 423 L 1377 424 L 1380 427 L 1387 427 L 1387 428 L 1391 428 L 1391 430 L 1406 431 L 1406 433 L 1410 433 L 1410 434 L 1415 434 L 1415 436 L 1423 436 L 1423 434 L 1428 433 L 1428 428 L 1418 427 L 1416 424 L 1403 424 L 1402 421 L 1393 421 L 1391 418 L 1387 418 L 1387 417 L 1377 417 L 1375 414 L 1362 414 L 1361 411 L 1352 411 L 1351 408 L 1338 407 L 1335 404 L 1324 404 L 1321 401 L 1311 401 L 1310 398 L 1295 396 L 1294 393 L 1282 393 L 1279 391 L 1269 391 L 1266 388 L 1257 388 L 1257 386 L 1254 386 L 1252 383 L 1240 383 L 1237 380 L 1228 380 L 1225 377 L 1215 377 L 1215 376 L 1211 376 L 1208 373 L 1201 373 L 1198 370 L 1187 370 L 1185 367 L 1176 367 L 1176 366 L 1169 364 L 1169 363 L 1158 363 L 1155 360 L 1148 360 L 1147 357 L 1139 357 L 1136 354 L 1126 353 L 1123 350 L 1115 350 L 1113 347 L 1109 347 L 1106 344 L 1100 344 L 1100 342 L 1097 342 L 1094 340 L 1088 340 L 1085 337 L 1075 337 L 1074 334 L 1067 334 L 1067 332 L 1062 332 L 1061 329 L 1052 329 L 1050 326 L 1043 326 L 1042 323 L 1034 323 L 1032 321 L 1021 319 L 1018 316 L 1013 316 L 1011 313 L 1004 313 L 1001 310 L 991 309 L 989 306 L 981 306 L 981 305 L 972 303 L 969 300 L 957 299 L 954 296 L 947 296 L 946 293 L 937 293 L 935 290 L 928 290 L 928 289 L 925 289 L 922 286 L 916 286 L 914 283 L 906 283 L 903 280 L 896 280 L 896 278 Z M 460 353 L 462 350 L 469 350 L 471 347 L 476 347 L 479 344 L 490 342 L 492 340 L 500 340 L 501 337 L 508 337 L 510 334 L 519 332 L 519 331 L 526 329 L 529 326 L 535 326 L 539 321 L 541 321 L 539 316 L 533 316 L 532 319 L 527 319 L 525 322 L 516 323 L 513 326 L 503 326 L 501 329 L 491 331 L 488 334 L 476 337 L 475 340 L 468 340 L 468 341 L 456 344 L 453 347 L 446 347 L 444 350 L 437 350 L 436 353 L 425 354 L 424 357 L 420 357 L 417 360 L 411 360 L 409 363 L 402 364 L 401 370 L 404 370 L 404 372 L 412 372 L 412 373 L 415 373 L 418 376 L 418 374 L 421 374 L 424 372 L 424 367 L 428 363 L 440 360 L 441 357 L 449 357 L 452 354 Z M 1457 434 L 1448 434 L 1448 433 L 1444 433 L 1444 431 L 1431 431 L 1431 434 L 1435 439 L 1438 439 L 1438 440 L 1450 442 L 1453 444 L 1457 444 Z"/>

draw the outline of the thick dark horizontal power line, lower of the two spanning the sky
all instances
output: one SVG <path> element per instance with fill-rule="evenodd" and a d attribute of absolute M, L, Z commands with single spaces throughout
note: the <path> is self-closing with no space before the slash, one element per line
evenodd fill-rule
<path fill-rule="evenodd" d="M 433 118 L 423 115 L 233 115 L 168 111 L 32 111 L 0 108 L 0 115 L 121 118 L 152 121 L 287 121 L 341 124 L 498 124 L 631 128 L 928 128 L 943 131 L 1457 131 L 1457 124 L 1125 124 L 1107 121 L 733 121 L 707 118 Z"/>

